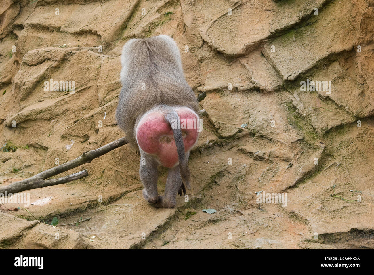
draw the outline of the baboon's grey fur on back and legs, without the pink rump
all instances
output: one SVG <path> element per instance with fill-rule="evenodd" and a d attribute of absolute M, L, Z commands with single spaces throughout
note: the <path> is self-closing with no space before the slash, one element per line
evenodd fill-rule
<path fill-rule="evenodd" d="M 129 143 L 137 150 L 135 131 L 147 111 L 155 108 L 168 109 L 165 119 L 169 123 L 171 119 L 178 117 L 175 107 L 186 106 L 195 113 L 198 112 L 195 94 L 184 78 L 179 50 L 171 37 L 160 35 L 129 40 L 123 46 L 121 64 L 122 90 L 116 119 Z M 142 83 L 145 84 L 145 90 L 141 89 Z M 145 164 L 141 164 L 139 169 L 144 185 L 143 195 L 156 207 L 175 207 L 175 197 L 177 192 L 181 192 L 183 183 L 190 189 L 189 152 L 186 155 L 184 153 L 181 130 L 172 131 L 179 164 L 169 169 L 164 196 L 157 194 L 158 162 L 153 156 L 140 150 L 141 158 L 145 158 Z"/>

